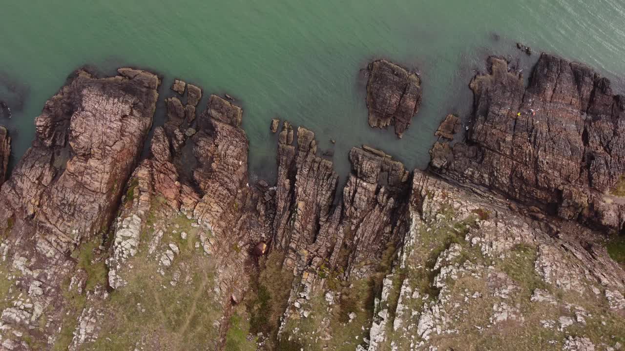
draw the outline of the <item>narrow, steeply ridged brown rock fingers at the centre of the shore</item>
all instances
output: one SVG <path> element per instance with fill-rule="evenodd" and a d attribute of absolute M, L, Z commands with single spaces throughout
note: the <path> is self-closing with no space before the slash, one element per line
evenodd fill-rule
<path fill-rule="evenodd" d="M 281 134 L 288 135 L 290 128 L 285 123 Z M 315 257 L 312 262 L 337 264 L 344 247 L 351 252 L 349 262 L 341 262 L 347 274 L 366 276 L 372 267 L 362 262 L 378 262 L 381 250 L 392 242 L 402 218 L 395 211 L 405 200 L 408 172 L 401 162 L 356 147 L 349 160 L 352 172 L 335 206 L 338 177 L 332 162 L 317 156 L 314 134 L 299 127 L 297 148 L 281 138 L 273 245 L 287 250 L 290 265 L 302 251 Z"/>

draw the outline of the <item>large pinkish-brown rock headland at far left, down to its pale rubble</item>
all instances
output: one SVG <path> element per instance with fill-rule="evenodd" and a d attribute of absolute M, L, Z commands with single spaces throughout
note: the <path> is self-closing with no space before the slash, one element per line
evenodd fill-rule
<path fill-rule="evenodd" d="M 70 254 L 101 234 L 117 210 L 151 127 L 159 84 L 149 72 L 119 74 L 96 79 L 76 72 L 46 102 L 32 147 L 0 188 L 2 260 L 12 269 L 9 279 L 19 276 L 5 297 L 14 307 L 2 311 L 3 345 L 25 334 L 41 349 L 52 347 L 69 303 L 61 284 L 76 266 Z"/>

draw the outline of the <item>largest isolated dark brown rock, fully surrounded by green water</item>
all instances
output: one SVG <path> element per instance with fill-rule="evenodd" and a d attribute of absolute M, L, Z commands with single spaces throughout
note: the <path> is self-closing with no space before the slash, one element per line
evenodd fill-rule
<path fill-rule="evenodd" d="M 385 60 L 369 64 L 367 108 L 369 126 L 395 126 L 401 137 L 421 106 L 421 79 L 416 73 Z"/>

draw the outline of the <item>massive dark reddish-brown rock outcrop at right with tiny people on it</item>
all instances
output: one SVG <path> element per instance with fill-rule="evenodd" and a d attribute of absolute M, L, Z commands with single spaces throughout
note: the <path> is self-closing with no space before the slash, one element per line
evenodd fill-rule
<path fill-rule="evenodd" d="M 506 61 L 471 82 L 474 120 L 434 168 L 565 219 L 620 229 L 622 199 L 609 194 L 625 171 L 625 99 L 582 64 L 542 54 L 528 87 Z"/>

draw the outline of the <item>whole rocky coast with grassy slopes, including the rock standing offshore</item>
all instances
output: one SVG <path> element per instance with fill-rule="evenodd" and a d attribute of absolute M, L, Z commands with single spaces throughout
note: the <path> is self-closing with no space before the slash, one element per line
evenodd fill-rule
<path fill-rule="evenodd" d="M 369 122 L 401 136 L 420 79 L 390 89 L 376 62 Z M 250 184 L 242 109 L 211 95 L 196 114 L 180 79 L 139 162 L 158 76 L 77 72 L 0 188 L 2 348 L 618 349 L 625 272 L 601 240 L 624 224 L 622 97 L 554 56 L 527 89 L 489 65 L 431 169 L 354 147 L 342 187 L 287 121 L 275 184 Z"/>

